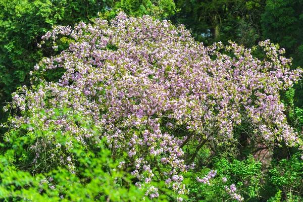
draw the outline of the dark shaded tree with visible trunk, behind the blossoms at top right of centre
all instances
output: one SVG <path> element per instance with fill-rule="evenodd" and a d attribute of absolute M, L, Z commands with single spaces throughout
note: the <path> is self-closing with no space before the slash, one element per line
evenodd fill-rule
<path fill-rule="evenodd" d="M 260 18 L 265 0 L 177 0 L 181 11 L 172 19 L 185 24 L 205 44 L 228 40 L 251 46 L 261 36 Z"/>

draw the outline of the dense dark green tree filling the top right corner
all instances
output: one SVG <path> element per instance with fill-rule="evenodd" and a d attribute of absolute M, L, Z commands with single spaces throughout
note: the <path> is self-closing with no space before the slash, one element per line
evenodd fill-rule
<path fill-rule="evenodd" d="M 293 58 L 293 65 L 302 66 L 303 1 L 268 0 L 261 22 L 264 38 L 279 43 Z"/>

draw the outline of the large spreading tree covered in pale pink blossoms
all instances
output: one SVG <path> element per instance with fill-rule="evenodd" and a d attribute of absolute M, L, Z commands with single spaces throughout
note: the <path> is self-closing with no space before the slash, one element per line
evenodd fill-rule
<path fill-rule="evenodd" d="M 51 39 L 56 49 L 62 36 L 69 48 L 42 59 L 31 72 L 32 82 L 39 84 L 20 88 L 6 107 L 20 111 L 8 127 L 27 124 L 22 135 L 33 139 L 29 148 L 36 168 L 64 164 L 76 172 L 72 139 L 87 149 L 105 140 L 120 162 L 117 169 L 129 171 L 138 187 L 163 181 L 184 194 L 182 173 L 194 168 L 199 149 L 232 145 L 237 141 L 233 129 L 241 124 L 268 145 L 302 145 L 279 96 L 302 71 L 290 71 L 284 50 L 268 40 L 259 43 L 265 52 L 260 60 L 251 54 L 257 47 L 232 42 L 205 47 L 184 26 L 120 13 L 111 22 L 54 27 L 38 45 Z M 40 78 L 51 69 L 65 73 L 55 82 Z M 11 141 L 12 131 L 7 133 Z M 65 142 L 55 138 L 58 133 Z M 215 175 L 211 171 L 197 180 L 209 183 Z M 242 200 L 234 185 L 226 190 Z M 157 197 L 157 187 L 146 195 Z"/>

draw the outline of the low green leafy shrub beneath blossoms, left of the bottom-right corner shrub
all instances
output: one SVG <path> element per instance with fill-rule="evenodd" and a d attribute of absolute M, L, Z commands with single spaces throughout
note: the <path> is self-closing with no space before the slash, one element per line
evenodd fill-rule
<path fill-rule="evenodd" d="M 211 184 L 197 182 L 192 173 L 187 173 L 190 195 L 188 201 L 236 201 L 226 193 L 224 186 L 235 184 L 244 196 L 245 201 L 259 201 L 262 198 L 262 164 L 249 156 L 246 160 L 239 161 L 229 158 L 215 158 L 213 168 L 217 176 Z M 200 176 L 207 175 L 210 169 L 201 169 Z M 224 182 L 222 178 L 226 177 Z"/>

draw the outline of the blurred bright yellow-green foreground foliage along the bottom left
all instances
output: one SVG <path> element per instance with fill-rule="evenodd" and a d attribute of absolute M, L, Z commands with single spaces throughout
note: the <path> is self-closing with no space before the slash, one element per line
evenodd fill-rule
<path fill-rule="evenodd" d="M 29 172 L 3 164 L 0 198 L 5 201 L 142 200 L 144 190 L 138 190 L 131 184 L 129 176 L 123 171 L 113 170 L 114 164 L 109 162 L 110 158 L 106 156 L 106 150 L 100 151 L 97 157 L 89 158 L 85 157 L 87 153 L 83 154 L 81 151 L 75 151 L 75 153 L 82 156 L 79 159 L 82 167 L 77 174 L 70 173 L 67 168 L 58 168 L 32 176 Z M 4 159 L 2 163 L 3 161 Z M 128 187 L 122 186 L 122 183 L 127 183 Z M 61 196 L 64 199 L 61 199 Z M 148 201 L 148 198 L 146 200 Z"/>

